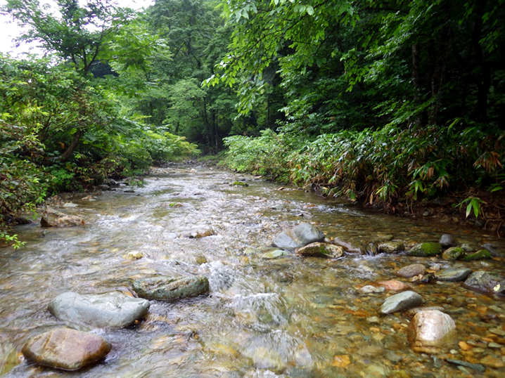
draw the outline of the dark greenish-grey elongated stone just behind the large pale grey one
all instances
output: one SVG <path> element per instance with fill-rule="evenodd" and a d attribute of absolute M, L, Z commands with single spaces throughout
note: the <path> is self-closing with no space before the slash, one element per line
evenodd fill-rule
<path fill-rule="evenodd" d="M 133 288 L 141 298 L 178 299 L 207 294 L 209 280 L 203 275 L 192 277 L 160 276 L 136 280 L 133 283 Z"/>

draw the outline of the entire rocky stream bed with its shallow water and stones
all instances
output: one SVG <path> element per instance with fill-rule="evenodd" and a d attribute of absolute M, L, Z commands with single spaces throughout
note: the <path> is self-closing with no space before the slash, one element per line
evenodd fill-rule
<path fill-rule="evenodd" d="M 505 374 L 492 234 L 205 167 L 101 189 L 55 198 L 53 224 L 0 249 L 7 377 Z M 61 337 L 96 346 L 86 364 L 35 353 Z"/>

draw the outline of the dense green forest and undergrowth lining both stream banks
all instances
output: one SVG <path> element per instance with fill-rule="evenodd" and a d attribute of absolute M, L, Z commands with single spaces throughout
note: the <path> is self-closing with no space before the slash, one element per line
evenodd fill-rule
<path fill-rule="evenodd" d="M 1 235 L 48 195 L 216 155 L 391 213 L 505 214 L 505 0 L 8 0 Z M 501 211 L 501 212 L 500 212 Z"/>

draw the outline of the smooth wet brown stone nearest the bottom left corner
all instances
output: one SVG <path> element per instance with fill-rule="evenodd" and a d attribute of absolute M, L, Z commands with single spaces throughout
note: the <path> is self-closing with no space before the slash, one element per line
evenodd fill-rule
<path fill-rule="evenodd" d="M 23 356 L 38 365 L 72 371 L 101 360 L 110 348 L 110 343 L 98 334 L 56 328 L 27 341 Z"/>

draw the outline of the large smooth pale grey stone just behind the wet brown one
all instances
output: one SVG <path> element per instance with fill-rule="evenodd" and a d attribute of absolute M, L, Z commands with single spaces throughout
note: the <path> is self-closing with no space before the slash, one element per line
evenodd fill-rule
<path fill-rule="evenodd" d="M 121 292 L 77 294 L 65 292 L 48 306 L 59 320 L 78 322 L 91 327 L 127 327 L 146 316 L 149 301 L 133 298 Z"/>

